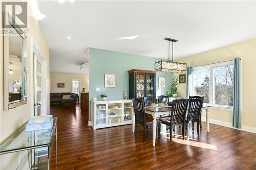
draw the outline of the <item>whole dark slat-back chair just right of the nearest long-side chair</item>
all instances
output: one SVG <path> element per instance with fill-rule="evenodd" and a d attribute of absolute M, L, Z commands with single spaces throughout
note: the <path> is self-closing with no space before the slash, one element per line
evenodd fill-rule
<path fill-rule="evenodd" d="M 188 102 L 187 118 L 185 118 L 187 136 L 188 136 L 188 124 L 192 123 L 192 130 L 194 131 L 194 123 L 197 123 L 197 134 L 199 136 L 199 122 L 200 111 L 203 105 L 203 99 L 189 99 Z"/>

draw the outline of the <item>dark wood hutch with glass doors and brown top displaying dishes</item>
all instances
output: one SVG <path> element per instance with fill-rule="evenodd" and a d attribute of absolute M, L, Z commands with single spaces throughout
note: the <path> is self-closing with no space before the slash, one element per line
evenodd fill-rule
<path fill-rule="evenodd" d="M 129 70 L 129 99 L 156 96 L 156 71 Z"/>

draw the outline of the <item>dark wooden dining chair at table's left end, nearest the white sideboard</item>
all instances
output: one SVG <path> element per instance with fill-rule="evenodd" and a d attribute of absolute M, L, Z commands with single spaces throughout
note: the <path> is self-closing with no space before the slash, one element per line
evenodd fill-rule
<path fill-rule="evenodd" d="M 146 116 L 146 113 L 144 111 L 144 100 L 143 99 L 133 99 L 133 107 L 134 107 L 134 113 L 135 113 L 135 129 L 134 134 L 137 134 L 137 124 L 143 126 L 143 141 L 146 141 L 146 130 L 148 130 L 148 127 L 153 126 L 153 118 Z M 158 132 L 158 138 L 160 138 L 160 125 L 161 121 L 157 120 L 157 132 Z"/>

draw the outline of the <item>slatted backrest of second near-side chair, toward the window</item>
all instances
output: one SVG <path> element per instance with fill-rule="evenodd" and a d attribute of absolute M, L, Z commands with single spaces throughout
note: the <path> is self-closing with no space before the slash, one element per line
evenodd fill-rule
<path fill-rule="evenodd" d="M 197 121 L 200 116 L 200 111 L 203 105 L 203 98 L 189 99 L 189 106 L 187 112 L 188 121 Z"/>

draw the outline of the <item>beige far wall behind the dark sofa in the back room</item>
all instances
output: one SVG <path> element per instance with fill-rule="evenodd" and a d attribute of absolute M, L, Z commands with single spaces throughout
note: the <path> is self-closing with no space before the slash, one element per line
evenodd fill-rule
<path fill-rule="evenodd" d="M 71 80 L 79 79 L 82 88 L 88 90 L 88 74 L 72 74 L 64 72 L 50 72 L 50 92 L 71 92 Z M 58 88 L 57 83 L 65 83 L 65 88 Z"/>

